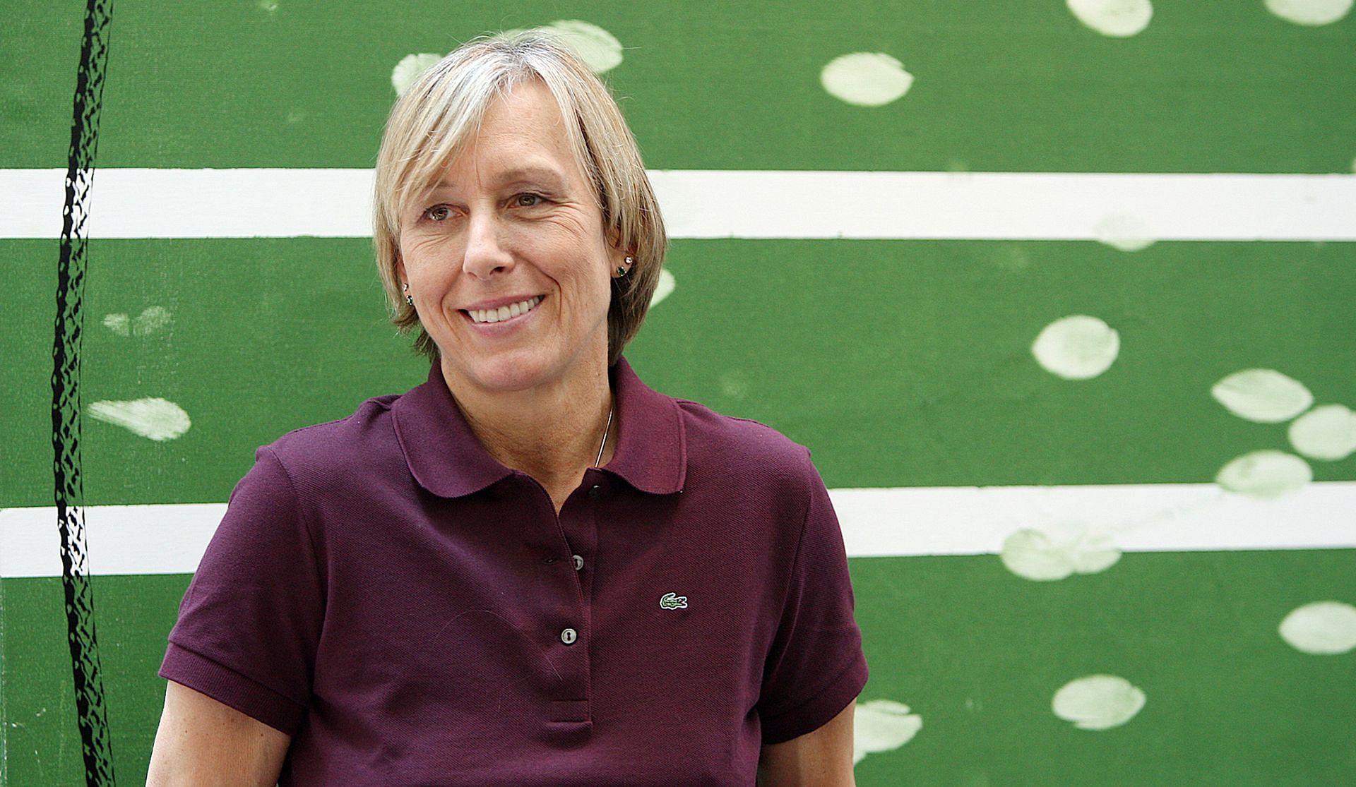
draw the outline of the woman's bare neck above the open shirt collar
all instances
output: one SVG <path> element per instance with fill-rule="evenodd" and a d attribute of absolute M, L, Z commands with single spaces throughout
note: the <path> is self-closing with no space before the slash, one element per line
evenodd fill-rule
<path fill-rule="evenodd" d="M 446 375 L 472 433 L 500 465 L 521 470 L 551 494 L 556 511 L 598 459 L 613 406 L 606 362 L 589 374 L 515 391 L 485 391 Z M 599 465 L 616 451 L 617 421 Z"/>

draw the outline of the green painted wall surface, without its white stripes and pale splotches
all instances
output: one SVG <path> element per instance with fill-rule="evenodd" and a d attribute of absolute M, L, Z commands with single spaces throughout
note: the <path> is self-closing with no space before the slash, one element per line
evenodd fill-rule
<path fill-rule="evenodd" d="M 0 38 L 0 169 L 64 168 L 83 8 L 14 0 Z M 121 1 L 100 167 L 365 168 L 410 53 L 485 30 L 584 19 L 625 45 L 607 80 L 655 169 L 1352 173 L 1356 15 L 1306 27 L 1261 0 L 1154 4 L 1108 38 L 1063 3 Z M 819 69 L 899 58 L 899 100 L 838 102 Z M 98 211 L 95 177 L 94 210 Z M 869 200 L 872 195 L 862 195 Z M 750 202 L 814 195 L 750 194 Z M 1208 206 L 1203 206 L 1203 210 Z M 1356 219 L 1353 219 L 1356 221 Z M 52 505 L 57 244 L 0 238 L 0 508 Z M 831 488 L 1208 484 L 1288 450 L 1210 387 L 1281 368 L 1356 405 L 1356 245 L 678 240 L 678 282 L 628 358 L 655 387 L 810 446 Z M 279 433 L 423 379 L 384 322 L 354 238 L 96 240 L 85 401 L 164 397 L 193 414 L 155 443 L 84 427 L 91 505 L 218 503 Z M 145 336 L 106 314 L 163 306 Z M 1123 351 L 1083 383 L 1031 341 L 1096 314 Z M 1356 458 L 1311 462 L 1356 481 Z M 964 523 L 957 523 L 963 527 Z M 900 527 L 907 527 L 902 524 Z M 0 549 L 4 549 L 0 540 Z M 923 719 L 869 754 L 871 784 L 1349 784 L 1356 653 L 1277 635 L 1294 608 L 1356 603 L 1356 550 L 1127 554 L 1032 582 L 995 555 L 852 565 L 872 680 Z M 94 580 L 119 779 L 141 783 L 155 676 L 187 576 Z M 0 581 L 4 783 L 83 779 L 60 580 Z M 1081 675 L 1147 695 L 1123 726 L 1074 729 L 1051 695 Z"/>

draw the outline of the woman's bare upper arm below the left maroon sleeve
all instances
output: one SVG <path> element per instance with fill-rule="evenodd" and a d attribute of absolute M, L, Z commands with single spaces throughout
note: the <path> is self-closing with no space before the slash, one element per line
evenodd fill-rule
<path fill-rule="evenodd" d="M 286 733 L 170 681 L 146 787 L 270 787 L 278 783 L 290 742 Z"/>

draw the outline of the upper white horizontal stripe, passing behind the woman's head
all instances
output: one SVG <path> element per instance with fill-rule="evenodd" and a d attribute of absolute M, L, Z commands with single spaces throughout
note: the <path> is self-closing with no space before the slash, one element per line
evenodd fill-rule
<path fill-rule="evenodd" d="M 650 176 L 675 238 L 1356 240 L 1356 175 Z M 64 179 L 0 169 L 0 237 L 58 237 Z M 87 237 L 367 237 L 370 195 L 370 169 L 98 169 Z"/>

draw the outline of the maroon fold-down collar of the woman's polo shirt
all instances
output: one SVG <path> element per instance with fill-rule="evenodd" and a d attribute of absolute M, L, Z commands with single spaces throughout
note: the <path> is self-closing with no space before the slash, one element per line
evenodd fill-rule
<path fill-rule="evenodd" d="M 609 373 L 621 442 L 603 471 L 641 492 L 679 492 L 687 452 L 678 404 L 640 382 L 625 359 Z M 428 381 L 396 400 L 391 414 L 410 473 L 439 497 L 471 494 L 513 474 L 476 439 L 437 362 Z"/>

